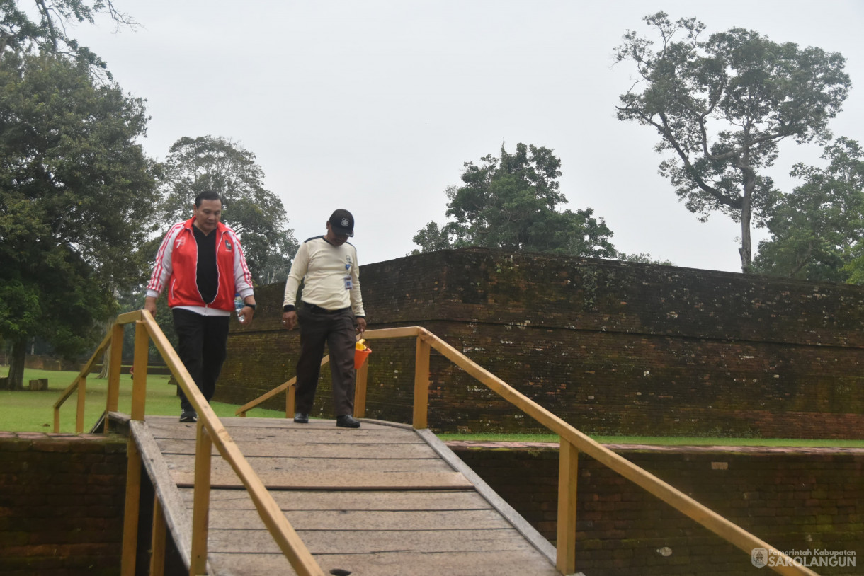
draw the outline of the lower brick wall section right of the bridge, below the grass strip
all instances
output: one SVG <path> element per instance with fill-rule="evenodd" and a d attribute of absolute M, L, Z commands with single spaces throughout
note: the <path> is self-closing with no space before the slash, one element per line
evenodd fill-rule
<path fill-rule="evenodd" d="M 448 445 L 555 541 L 556 445 Z M 816 573 L 862 573 L 864 449 L 609 447 L 779 550 L 854 553 L 856 566 Z M 577 490 L 576 569 L 588 576 L 759 572 L 748 553 L 584 455 Z"/>

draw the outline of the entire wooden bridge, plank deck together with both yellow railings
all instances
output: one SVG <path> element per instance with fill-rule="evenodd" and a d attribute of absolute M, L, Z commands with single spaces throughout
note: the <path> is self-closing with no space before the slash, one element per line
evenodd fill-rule
<path fill-rule="evenodd" d="M 131 415 L 117 414 L 124 325 L 135 323 Z M 583 452 L 749 555 L 772 548 L 701 503 L 601 446 L 499 377 L 419 326 L 365 332 L 366 339 L 416 339 L 411 425 L 365 421 L 360 429 L 334 421 L 289 421 L 294 379 L 238 409 L 238 415 L 282 392 L 286 418 L 220 420 L 192 382 L 150 313 L 118 317 L 90 360 L 54 403 L 77 392 L 75 430 L 83 431 L 86 376 L 111 345 L 105 430 L 129 430 L 121 574 L 162 576 L 170 534 L 183 573 L 357 576 L 387 574 L 575 574 L 576 484 Z M 196 424 L 145 416 L 148 347 L 152 339 L 198 412 Z M 496 497 L 427 429 L 429 353 L 465 370 L 561 440 L 556 547 Z M 327 358 L 324 359 L 324 362 Z M 355 416 L 365 413 L 366 369 L 357 375 Z M 153 497 L 150 535 L 139 535 L 142 478 Z M 146 525 L 146 523 L 145 523 Z M 147 543 L 149 558 L 138 554 Z M 816 576 L 777 551 L 774 572 Z M 742 554 L 742 562 L 750 559 Z"/>

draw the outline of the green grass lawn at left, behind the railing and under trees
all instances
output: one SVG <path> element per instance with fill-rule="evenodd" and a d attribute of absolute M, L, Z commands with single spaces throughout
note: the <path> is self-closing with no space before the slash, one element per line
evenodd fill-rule
<path fill-rule="evenodd" d="M 9 374 L 9 366 L 0 366 L 0 377 Z M 60 398 L 63 390 L 73 383 L 77 372 L 56 370 L 24 370 L 24 385 L 29 380 L 48 378 L 47 392 L 31 392 L 29 390 L 0 390 L 0 430 L 6 432 L 53 432 L 54 402 Z M 88 431 L 105 412 L 105 396 L 108 381 L 101 380 L 96 374 L 87 377 L 87 394 L 84 407 L 84 429 Z M 147 408 L 148 415 L 176 415 L 180 417 L 180 399 L 177 387 L 168 384 L 167 376 L 147 377 Z M 69 396 L 60 408 L 60 432 L 75 431 L 75 409 L 77 393 Z M 120 375 L 120 399 L 118 410 L 129 414 L 132 405 L 132 378 L 129 374 Z M 239 408 L 234 404 L 211 402 L 210 406 L 219 417 L 233 416 Z M 284 418 L 285 413 L 278 410 L 253 408 L 249 416 L 258 418 Z"/>

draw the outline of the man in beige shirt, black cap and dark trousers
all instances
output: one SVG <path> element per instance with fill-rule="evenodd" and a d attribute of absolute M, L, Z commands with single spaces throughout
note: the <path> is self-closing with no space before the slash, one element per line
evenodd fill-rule
<path fill-rule="evenodd" d="M 337 210 L 327 220 L 327 234 L 303 242 L 285 282 L 283 326 L 300 322 L 294 421 L 305 424 L 318 387 L 324 344 L 330 352 L 336 426 L 358 428 L 354 412 L 354 344 L 366 329 L 360 294 L 357 250 L 347 240 L 354 235 L 354 217 Z M 302 302 L 295 305 L 303 281 Z"/>

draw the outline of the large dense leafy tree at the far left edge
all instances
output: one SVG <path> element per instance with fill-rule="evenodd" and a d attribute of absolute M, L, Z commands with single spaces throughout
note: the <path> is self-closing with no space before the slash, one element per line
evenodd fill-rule
<path fill-rule="evenodd" d="M 146 121 L 143 100 L 94 84 L 85 64 L 0 57 L 0 334 L 15 387 L 28 339 L 83 351 L 115 291 L 143 280 L 157 199 Z"/>

